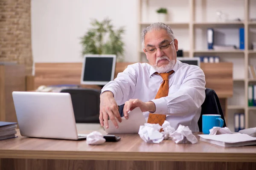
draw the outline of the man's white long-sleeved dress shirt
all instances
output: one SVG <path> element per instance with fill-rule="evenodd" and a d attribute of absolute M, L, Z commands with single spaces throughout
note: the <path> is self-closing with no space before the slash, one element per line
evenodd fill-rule
<path fill-rule="evenodd" d="M 201 105 L 205 99 L 204 72 L 196 65 L 188 65 L 177 60 L 169 76 L 169 93 L 166 97 L 154 99 L 163 79 L 148 63 L 128 65 L 113 81 L 102 88 L 102 92 L 111 91 L 117 105 L 129 99 L 152 101 L 157 114 L 165 114 L 166 121 L 177 129 L 181 124 L 188 126 L 192 132 L 199 131 L 198 119 Z M 149 112 L 143 112 L 146 121 Z"/>

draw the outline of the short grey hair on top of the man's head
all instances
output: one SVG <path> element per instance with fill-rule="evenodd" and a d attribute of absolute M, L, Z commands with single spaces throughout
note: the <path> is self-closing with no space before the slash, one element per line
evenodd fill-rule
<path fill-rule="evenodd" d="M 175 39 L 175 36 L 173 34 L 173 31 L 172 29 L 167 26 L 166 24 L 164 23 L 152 23 L 150 26 L 148 26 L 147 28 L 145 28 L 142 32 L 142 46 L 143 48 L 145 48 L 145 44 L 144 44 L 144 41 L 145 41 L 145 35 L 150 32 L 150 31 L 156 31 L 156 30 L 161 30 L 161 29 L 164 29 L 167 31 L 167 33 L 169 34 L 170 38 L 172 38 L 172 40 Z"/>

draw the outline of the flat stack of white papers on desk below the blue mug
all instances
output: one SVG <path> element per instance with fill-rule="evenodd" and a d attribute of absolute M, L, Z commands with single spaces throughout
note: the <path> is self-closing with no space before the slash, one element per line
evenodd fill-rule
<path fill-rule="evenodd" d="M 256 138 L 247 134 L 233 133 L 221 135 L 198 135 L 200 140 L 223 147 L 246 146 L 256 144 Z"/>

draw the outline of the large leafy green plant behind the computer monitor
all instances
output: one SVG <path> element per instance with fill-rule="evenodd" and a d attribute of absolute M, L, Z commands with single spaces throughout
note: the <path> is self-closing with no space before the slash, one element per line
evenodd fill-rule
<path fill-rule="evenodd" d="M 91 22 L 93 28 L 89 28 L 81 37 L 82 55 L 84 54 L 115 54 L 117 61 L 123 60 L 124 42 L 122 34 L 124 28 L 114 30 L 111 20 L 108 18 L 101 22 L 94 19 Z"/>

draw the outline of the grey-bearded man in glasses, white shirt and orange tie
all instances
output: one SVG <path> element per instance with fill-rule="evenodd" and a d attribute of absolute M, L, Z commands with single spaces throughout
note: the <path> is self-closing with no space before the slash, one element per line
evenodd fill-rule
<path fill-rule="evenodd" d="M 123 113 L 140 107 L 148 123 L 166 120 L 177 129 L 181 124 L 199 131 L 198 119 L 205 99 L 204 72 L 195 65 L 177 60 L 178 41 L 172 29 L 163 23 L 152 23 L 143 30 L 143 50 L 148 63 L 128 65 L 116 79 L 102 88 L 100 95 L 101 125 L 108 128 L 108 118 L 116 128 Z"/>

